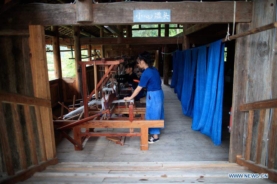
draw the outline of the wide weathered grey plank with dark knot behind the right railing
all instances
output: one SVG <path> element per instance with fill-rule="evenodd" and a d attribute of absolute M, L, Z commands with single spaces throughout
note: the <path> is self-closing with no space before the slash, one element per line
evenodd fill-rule
<path fill-rule="evenodd" d="M 254 1 L 251 29 L 272 23 L 275 13 L 275 0 Z M 274 29 L 269 29 L 257 34 L 250 35 L 251 49 L 249 50 L 249 60 L 247 62 L 247 83 L 246 83 L 246 103 L 271 99 L 271 79 L 274 47 Z M 259 116 L 254 116 L 253 139 L 251 143 L 250 160 L 255 161 L 257 137 L 259 132 Z M 263 141 L 267 144 L 269 112 L 266 111 Z M 262 148 L 262 160 L 266 157 L 266 147 Z M 265 162 L 262 162 L 265 164 Z"/>

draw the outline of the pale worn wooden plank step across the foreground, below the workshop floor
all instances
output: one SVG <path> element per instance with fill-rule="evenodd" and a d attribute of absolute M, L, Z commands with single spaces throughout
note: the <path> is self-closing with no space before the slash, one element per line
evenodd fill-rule
<path fill-rule="evenodd" d="M 230 179 L 252 173 L 224 161 L 58 163 L 23 183 L 274 183 L 267 179 Z"/>

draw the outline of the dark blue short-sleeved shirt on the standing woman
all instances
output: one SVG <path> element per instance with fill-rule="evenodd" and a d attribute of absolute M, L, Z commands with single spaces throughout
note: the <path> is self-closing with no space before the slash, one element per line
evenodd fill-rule
<path fill-rule="evenodd" d="M 147 91 L 157 91 L 162 89 L 162 80 L 160 78 L 159 71 L 155 67 L 148 67 L 143 71 L 139 86 L 146 87 Z"/>

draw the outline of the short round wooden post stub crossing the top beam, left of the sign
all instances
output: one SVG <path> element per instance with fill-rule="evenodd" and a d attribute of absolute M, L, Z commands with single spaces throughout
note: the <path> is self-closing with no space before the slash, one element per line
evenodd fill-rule
<path fill-rule="evenodd" d="M 78 23 L 93 22 L 93 2 L 91 0 L 76 0 L 76 21 Z"/>

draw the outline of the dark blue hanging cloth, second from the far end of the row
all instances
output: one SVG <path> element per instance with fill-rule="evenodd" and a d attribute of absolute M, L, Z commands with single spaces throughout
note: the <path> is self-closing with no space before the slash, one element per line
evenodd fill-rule
<path fill-rule="evenodd" d="M 183 54 L 185 54 L 183 53 L 183 51 L 177 51 L 176 53 L 176 61 L 178 63 L 178 75 L 177 75 L 177 83 L 175 84 L 174 92 L 177 93 L 177 97 L 179 100 L 181 100 L 183 77 L 184 77 Z"/>

